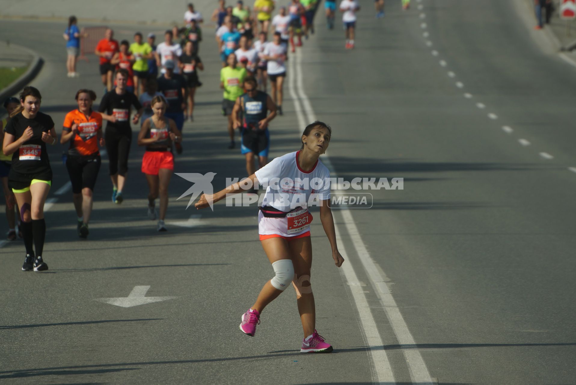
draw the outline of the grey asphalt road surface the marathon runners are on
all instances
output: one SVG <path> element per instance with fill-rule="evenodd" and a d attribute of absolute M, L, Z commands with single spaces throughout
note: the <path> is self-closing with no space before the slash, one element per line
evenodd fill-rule
<path fill-rule="evenodd" d="M 69 193 L 48 210 L 50 270 L 18 271 L 21 243 L 0 249 L 2 382 L 576 383 L 574 67 L 540 50 L 511 3 L 414 1 L 401 12 L 389 2 L 383 20 L 364 6 L 353 52 L 318 15 L 317 34 L 291 58 L 291 69 L 302 69 L 301 86 L 293 84 L 300 100 L 287 97 L 286 116 L 272 125 L 272 156 L 297 149 L 300 120 L 312 117 L 334 129 L 328 156 L 340 178 L 404 178 L 404 190 L 369 191 L 371 209 L 334 210 L 357 286 L 332 265 L 313 222 L 317 327 L 335 352 L 297 353 L 291 289 L 267 308 L 255 338 L 240 334 L 240 315 L 272 271 L 255 211 L 219 206 L 188 220 L 197 213 L 175 201 L 188 184 L 173 176 L 169 232 L 158 235 L 134 146 L 122 206 L 109 202 L 105 167 L 100 173 L 89 240 L 75 236 Z M 46 60 L 33 85 L 56 122 L 80 86 L 101 88 L 93 61 L 80 78 L 65 77 L 61 29 L 0 25 Z M 218 188 L 245 171 L 240 154 L 225 149 L 209 38 L 201 56 L 204 86 L 176 172 L 217 172 Z M 51 153 L 54 191 L 67 182 L 61 150 Z M 361 263 L 366 255 L 375 270 Z M 375 274 L 391 296 L 378 292 Z M 130 308 L 94 301 L 138 285 L 150 286 L 146 296 L 176 298 Z M 358 293 L 380 346 L 368 342 Z M 382 305 L 391 297 L 394 306 Z M 388 382 L 374 358 L 382 350 Z"/>

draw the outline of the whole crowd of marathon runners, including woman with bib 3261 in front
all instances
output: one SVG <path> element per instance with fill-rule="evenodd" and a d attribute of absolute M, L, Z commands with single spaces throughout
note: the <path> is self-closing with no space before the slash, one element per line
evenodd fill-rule
<path fill-rule="evenodd" d="M 376 17 L 384 16 L 384 0 L 376 0 Z M 245 156 L 248 178 L 213 195 L 202 195 L 196 208 L 202 209 L 223 199 L 226 194 L 256 192 L 257 183 L 272 178 L 305 178 L 324 180 L 324 186 L 289 186 L 287 194 L 311 195 L 320 199 L 320 220 L 331 244 L 336 266 L 343 258 L 336 246 L 334 222 L 328 201 L 329 171 L 319 157 L 328 147 L 332 130 L 323 122 L 305 127 L 301 148 L 268 163 L 270 132 L 268 126 L 283 115 L 283 84 L 287 76 L 289 55 L 302 46 L 302 38 L 314 34 L 317 0 L 291 0 L 286 6 L 276 6 L 273 0 L 256 0 L 252 10 L 238 0 L 235 6 L 219 6 L 211 15 L 215 22 L 215 43 L 222 66 L 220 87 L 223 90 L 222 114 L 226 116 L 230 138 L 229 149 L 236 148 L 236 130 L 240 131 L 240 152 Z M 407 9 L 409 0 L 403 0 Z M 357 0 L 342 0 L 347 49 L 355 46 Z M 275 11 L 277 14 L 273 15 Z M 325 0 L 328 29 L 335 27 L 335 0 Z M 199 56 L 206 35 L 202 31 L 202 14 L 188 5 L 184 27 L 165 31 L 156 44 L 154 33 L 135 33 L 134 41 L 114 39 L 108 28 L 98 41 L 94 54 L 98 56 L 103 97 L 97 111 L 93 103 L 97 92 L 81 88 L 74 96 L 78 108 L 66 114 L 59 135 L 61 144 L 69 144 L 64 160 L 69 173 L 77 233 L 82 239 L 89 235 L 89 220 L 93 206 L 93 191 L 101 166 L 101 149 L 109 160 L 112 202 L 120 205 L 127 184 L 128 160 L 132 144 L 131 124 L 139 124 L 138 146 L 145 147 L 141 171 L 149 186 L 147 216 L 157 220 L 157 230 L 166 231 L 164 223 L 168 207 L 168 186 L 175 163 L 175 153 L 183 152 L 184 122 L 194 121 L 196 89 L 202 86 L 199 71 L 204 64 Z M 70 17 L 63 34 L 67 50 L 67 76 L 79 77 L 76 70 L 79 41 L 88 36 Z M 270 85 L 270 93 L 268 93 Z M 2 152 L 0 176 L 6 198 L 8 240 L 24 240 L 26 256 L 22 270 L 42 271 L 48 265 L 43 259 L 46 222 L 44 203 L 52 184 L 52 169 L 48 146 L 56 144 L 56 124 L 50 115 L 40 111 L 40 90 L 26 86 L 19 98 L 3 101 L 8 117 L 0 122 Z M 104 127 L 105 124 L 105 127 Z M 260 241 L 272 263 L 275 276 L 257 296 L 255 304 L 242 315 L 240 329 L 253 336 L 264 307 L 293 284 L 298 298 L 304 340 L 301 352 L 330 352 L 332 346 L 315 329 L 314 297 L 310 286 L 312 246 L 310 221 L 306 203 L 286 205 L 275 201 L 274 191 L 266 187 L 259 207 Z M 267 199 L 268 198 L 268 199 Z M 159 199 L 160 210 L 156 210 Z M 301 203 L 300 200 L 298 202 Z"/>

